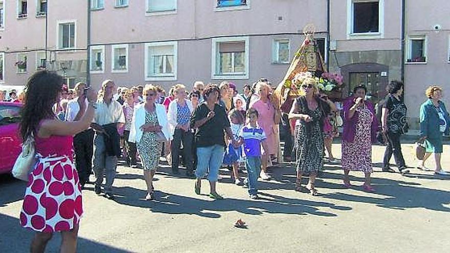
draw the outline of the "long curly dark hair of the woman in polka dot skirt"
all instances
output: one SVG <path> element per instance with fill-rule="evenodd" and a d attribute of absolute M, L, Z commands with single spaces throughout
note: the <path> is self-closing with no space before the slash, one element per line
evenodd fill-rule
<path fill-rule="evenodd" d="M 25 86 L 24 107 L 21 110 L 20 135 L 27 140 L 36 135 L 41 120 L 53 119 L 53 105 L 58 102 L 63 79 L 55 72 L 39 71 L 33 74 Z"/>

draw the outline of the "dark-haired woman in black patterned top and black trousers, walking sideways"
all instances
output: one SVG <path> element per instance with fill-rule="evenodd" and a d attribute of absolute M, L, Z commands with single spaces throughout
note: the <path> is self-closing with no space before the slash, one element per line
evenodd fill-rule
<path fill-rule="evenodd" d="M 408 174 L 403 154 L 401 153 L 400 136 L 408 131 L 408 120 L 406 118 L 406 105 L 400 100 L 403 93 L 403 83 L 392 81 L 388 85 L 389 95 L 383 105 L 381 122 L 383 123 L 383 133 L 388 139 L 385 157 L 383 159 L 383 171 L 394 172 L 389 167 L 389 161 L 394 154 L 395 163 L 402 175 Z"/>

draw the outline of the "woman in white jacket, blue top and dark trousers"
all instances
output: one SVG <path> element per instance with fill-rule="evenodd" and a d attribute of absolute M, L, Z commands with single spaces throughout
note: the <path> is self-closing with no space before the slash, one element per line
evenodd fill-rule
<path fill-rule="evenodd" d="M 185 158 L 186 176 L 194 177 L 194 164 L 192 158 L 193 134 L 190 127 L 190 118 L 193 111 L 192 103 L 186 99 L 186 87 L 176 84 L 174 87 L 175 99 L 170 102 L 167 112 L 170 130 L 173 136 L 172 151 L 172 173 L 179 174 L 179 149 L 183 142 L 183 156 Z"/>

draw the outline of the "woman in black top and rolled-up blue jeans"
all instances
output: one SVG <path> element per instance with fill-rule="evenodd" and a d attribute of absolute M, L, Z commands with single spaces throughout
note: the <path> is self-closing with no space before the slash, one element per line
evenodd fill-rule
<path fill-rule="evenodd" d="M 210 182 L 210 197 L 222 199 L 216 192 L 216 182 L 219 174 L 219 167 L 222 163 L 225 151 L 224 131 L 233 145 L 230 122 L 228 121 L 225 109 L 217 104 L 220 99 L 220 91 L 217 85 L 209 84 L 203 90 L 205 102 L 200 104 L 194 111 L 191 118 L 191 126 L 196 130 L 195 146 L 197 147 L 197 168 L 195 170 L 195 193 L 200 194 L 201 178 L 208 172 Z"/>

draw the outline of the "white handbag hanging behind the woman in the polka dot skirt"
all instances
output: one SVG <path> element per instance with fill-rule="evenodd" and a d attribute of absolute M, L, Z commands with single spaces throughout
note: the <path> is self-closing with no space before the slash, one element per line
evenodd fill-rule
<path fill-rule="evenodd" d="M 22 152 L 16 159 L 12 168 L 12 175 L 20 180 L 28 181 L 28 175 L 36 165 L 36 153 L 34 149 L 33 135 L 22 144 Z"/>

